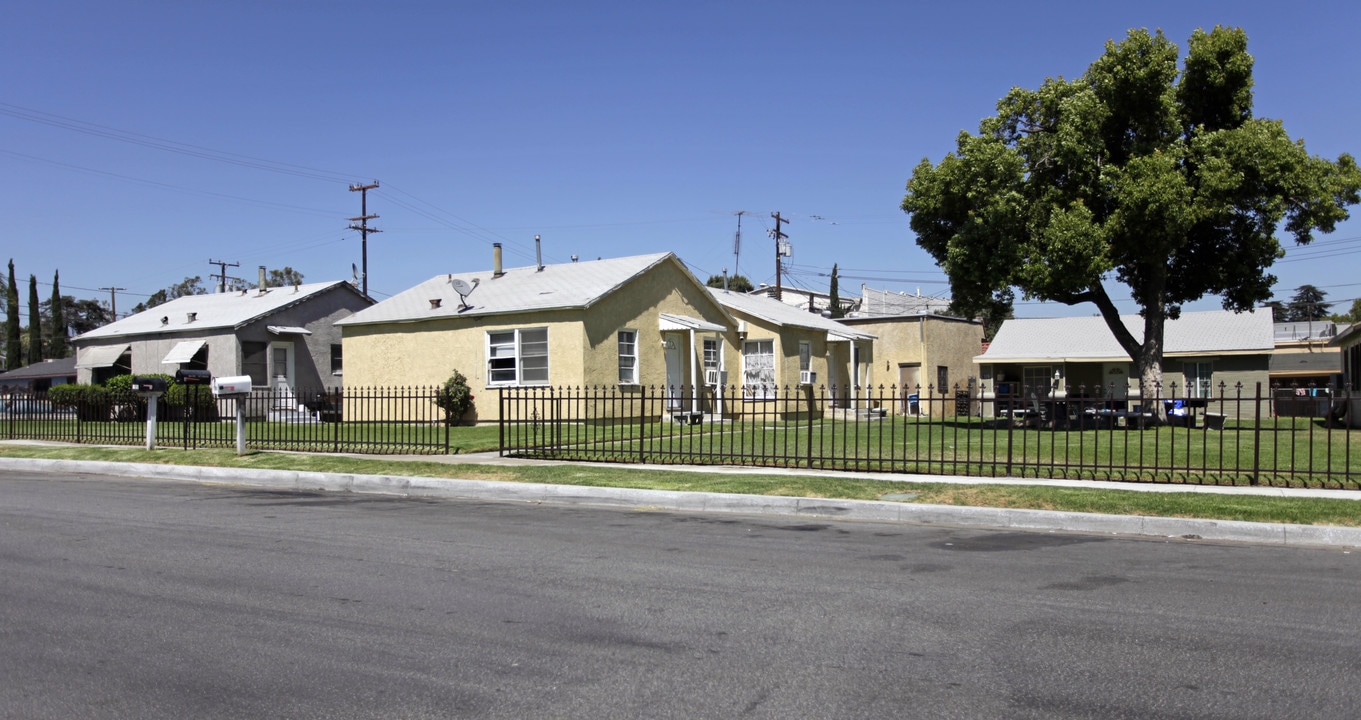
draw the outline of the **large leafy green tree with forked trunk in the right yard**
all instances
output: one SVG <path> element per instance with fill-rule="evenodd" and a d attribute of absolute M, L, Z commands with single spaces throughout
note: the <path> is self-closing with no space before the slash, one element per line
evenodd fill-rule
<path fill-rule="evenodd" d="M 1239 29 L 1195 31 L 1179 50 L 1131 30 L 1075 80 L 1013 88 L 938 165 L 921 161 L 902 210 L 966 313 L 1028 299 L 1092 302 L 1146 388 L 1162 380 L 1164 324 L 1219 295 L 1230 310 L 1271 297 L 1267 268 L 1347 218 L 1361 191 L 1350 155 L 1311 157 L 1279 121 L 1252 116 Z M 1104 282 L 1143 316 L 1130 332 Z"/>

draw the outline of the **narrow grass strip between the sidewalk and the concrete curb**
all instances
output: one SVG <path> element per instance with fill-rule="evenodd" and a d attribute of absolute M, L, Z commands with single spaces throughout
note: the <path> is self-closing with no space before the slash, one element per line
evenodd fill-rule
<path fill-rule="evenodd" d="M 832 472 L 826 475 L 732 475 L 724 472 L 652 470 L 630 465 L 491 465 L 289 452 L 250 452 L 245 456 L 237 456 L 234 451 L 226 449 L 181 451 L 162 448 L 148 452 L 135 448 L 90 445 L 0 444 L 0 457 L 294 470 L 354 475 L 529 482 L 829 500 L 890 500 L 894 502 L 928 505 L 1243 520 L 1302 525 L 1361 525 L 1361 502 L 1358 502 L 1361 501 L 1361 493 L 1357 494 L 1357 500 L 1281 498 L 1195 491 L 1146 493 L 1134 490 L 1052 487 L 1044 485 L 957 485 L 871 480 L 838 476 Z M 915 494 L 915 497 L 897 500 L 911 494 Z M 886 498 L 886 495 L 891 497 Z"/>

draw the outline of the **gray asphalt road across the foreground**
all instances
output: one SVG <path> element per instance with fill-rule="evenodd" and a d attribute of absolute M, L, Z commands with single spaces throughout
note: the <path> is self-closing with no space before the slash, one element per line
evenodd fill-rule
<path fill-rule="evenodd" d="M 1351 717 L 1361 557 L 0 474 L 0 717 Z"/>

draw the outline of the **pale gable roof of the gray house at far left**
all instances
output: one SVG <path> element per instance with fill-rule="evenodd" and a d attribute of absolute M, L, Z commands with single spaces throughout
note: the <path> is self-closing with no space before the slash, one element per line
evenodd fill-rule
<path fill-rule="evenodd" d="M 259 290 L 246 290 L 245 293 L 185 295 L 95 328 L 78 336 L 76 340 L 235 329 L 252 320 L 276 313 L 339 286 L 350 287 L 350 291 L 359 294 L 344 280 L 332 280 L 297 287 L 271 287 L 264 294 L 260 294 Z M 193 320 L 189 318 L 191 314 Z"/>

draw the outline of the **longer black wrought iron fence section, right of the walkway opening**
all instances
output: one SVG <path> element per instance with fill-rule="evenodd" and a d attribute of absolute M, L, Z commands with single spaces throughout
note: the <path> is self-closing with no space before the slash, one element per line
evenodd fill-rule
<path fill-rule="evenodd" d="M 1275 416 L 1260 385 L 506 388 L 501 453 L 939 475 L 1356 489 L 1339 421 Z M 1356 418 L 1351 423 L 1357 425 Z"/>

